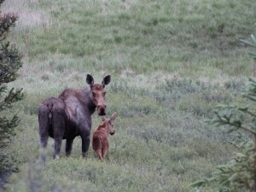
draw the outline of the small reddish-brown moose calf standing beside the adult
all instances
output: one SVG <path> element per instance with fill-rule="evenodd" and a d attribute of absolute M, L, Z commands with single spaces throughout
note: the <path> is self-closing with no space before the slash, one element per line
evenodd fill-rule
<path fill-rule="evenodd" d="M 109 134 L 114 134 L 113 120 L 116 118 L 116 113 L 113 113 L 110 119 L 102 117 L 102 124 L 96 127 L 92 135 L 92 148 L 95 150 L 99 160 L 105 159 L 108 155 L 108 137 Z"/>

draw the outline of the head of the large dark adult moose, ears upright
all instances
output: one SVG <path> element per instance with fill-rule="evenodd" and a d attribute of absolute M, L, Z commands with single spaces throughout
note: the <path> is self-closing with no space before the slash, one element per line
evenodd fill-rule
<path fill-rule="evenodd" d="M 110 83 L 110 75 L 107 75 L 103 80 L 102 84 L 95 84 L 94 79 L 90 74 L 87 74 L 86 82 L 90 84 L 90 98 L 92 102 L 96 105 L 96 110 L 99 115 L 106 114 L 106 103 L 105 103 L 105 95 L 106 91 L 104 90 L 105 85 Z"/>

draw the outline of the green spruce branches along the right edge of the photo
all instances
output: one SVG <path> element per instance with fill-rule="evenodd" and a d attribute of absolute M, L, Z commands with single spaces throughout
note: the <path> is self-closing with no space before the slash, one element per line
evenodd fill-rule
<path fill-rule="evenodd" d="M 251 39 L 241 43 L 256 49 L 256 38 L 252 35 Z M 256 60 L 256 53 L 249 54 Z M 249 81 L 243 94 L 245 106 L 218 106 L 214 119 L 208 120 L 210 124 L 227 127 L 229 132 L 236 131 L 236 143 L 240 143 L 241 148 L 228 164 L 218 166 L 212 177 L 191 184 L 200 191 L 207 186 L 218 186 L 218 191 L 256 191 L 256 81 Z M 241 137 L 241 133 L 245 137 Z"/>

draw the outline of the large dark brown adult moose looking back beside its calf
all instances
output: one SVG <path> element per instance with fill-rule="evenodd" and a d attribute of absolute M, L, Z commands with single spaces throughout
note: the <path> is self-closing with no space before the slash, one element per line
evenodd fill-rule
<path fill-rule="evenodd" d="M 59 158 L 61 141 L 66 139 L 68 156 L 71 154 L 74 138 L 80 136 L 82 154 L 85 157 L 90 146 L 91 115 L 95 111 L 100 116 L 106 114 L 104 88 L 110 83 L 110 79 L 108 75 L 102 80 L 102 84 L 96 84 L 92 76 L 87 74 L 89 88 L 63 90 L 58 98 L 50 97 L 41 102 L 38 108 L 41 147 L 46 148 L 49 137 L 54 138 L 54 158 Z"/>

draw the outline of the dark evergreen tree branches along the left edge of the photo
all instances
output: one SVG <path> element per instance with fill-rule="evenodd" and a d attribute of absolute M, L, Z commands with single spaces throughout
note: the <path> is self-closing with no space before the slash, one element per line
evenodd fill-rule
<path fill-rule="evenodd" d="M 3 1 L 0 1 L 2 4 Z M 22 66 L 21 56 L 15 46 L 11 46 L 6 40 L 9 28 L 15 25 L 18 15 L 5 14 L 0 15 L 0 170 L 6 166 L 8 160 L 4 148 L 10 142 L 12 136 L 15 135 L 15 127 L 19 123 L 16 114 L 9 115 L 10 108 L 13 103 L 22 99 L 22 89 L 8 89 L 10 82 L 18 77 L 18 70 Z"/>

